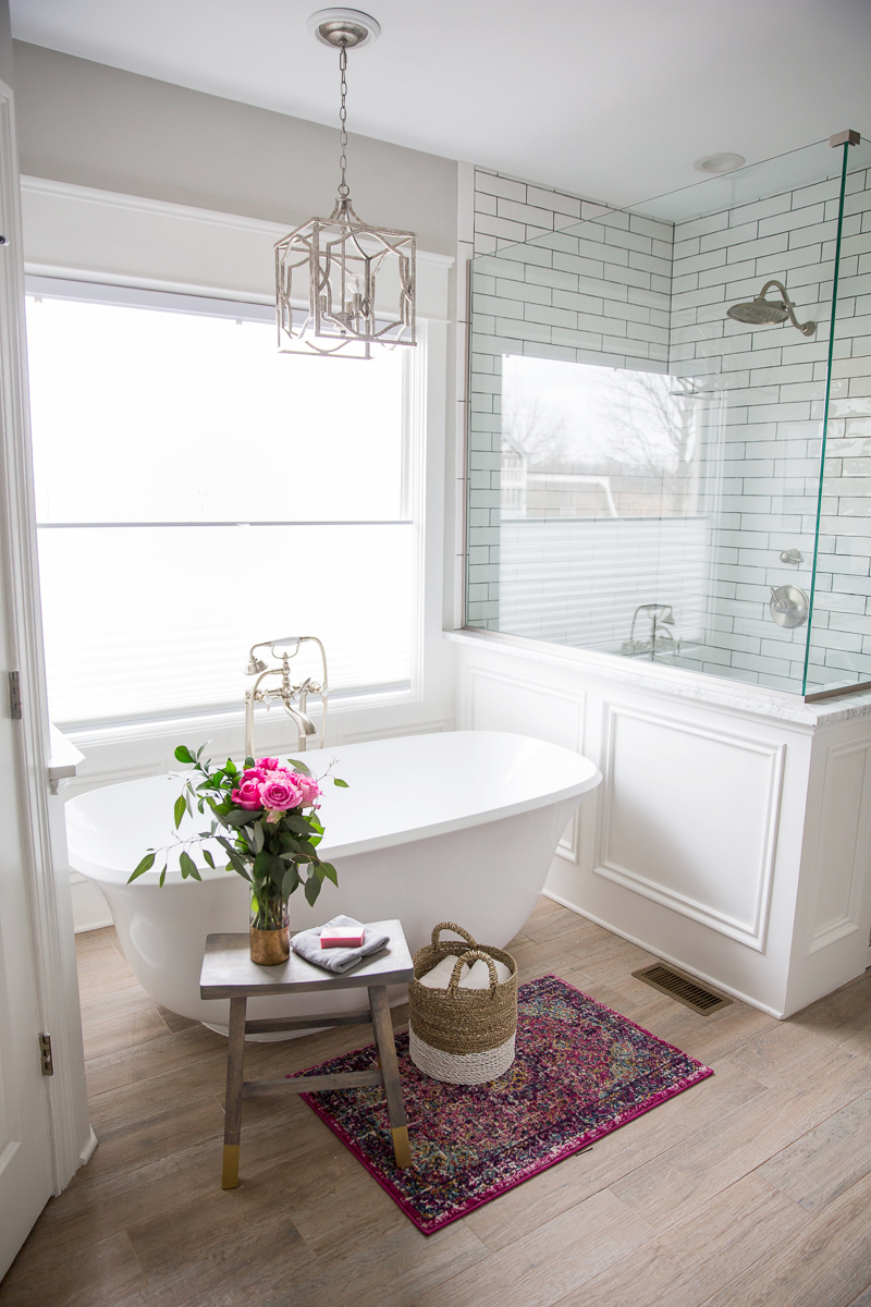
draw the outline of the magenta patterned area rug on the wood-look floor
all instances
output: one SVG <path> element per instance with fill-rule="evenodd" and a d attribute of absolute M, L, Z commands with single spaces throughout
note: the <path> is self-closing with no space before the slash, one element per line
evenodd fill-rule
<path fill-rule="evenodd" d="M 302 1094 L 423 1234 L 467 1216 L 713 1072 L 559 976 L 520 987 L 517 1057 L 488 1085 L 443 1085 L 397 1035 L 413 1166 L 393 1161 L 384 1090 Z M 363 1070 L 375 1044 L 300 1076 Z"/>

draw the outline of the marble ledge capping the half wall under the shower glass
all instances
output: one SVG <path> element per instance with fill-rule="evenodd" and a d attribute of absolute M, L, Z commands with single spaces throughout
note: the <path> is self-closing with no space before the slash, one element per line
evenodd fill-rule
<path fill-rule="evenodd" d="M 606 681 L 637 685 L 657 690 L 659 694 L 675 694 L 684 699 L 696 699 L 699 703 L 713 703 L 756 716 L 794 721 L 803 727 L 836 725 L 840 721 L 871 716 L 871 690 L 857 691 L 844 698 L 823 699 L 819 703 L 804 703 L 798 694 L 786 694 L 782 690 L 767 690 L 679 668 L 640 667 L 612 654 L 539 644 L 535 640 L 501 635 L 498 631 L 466 629 L 445 631 L 444 637 L 452 644 L 486 648 L 522 663 L 543 663 L 564 670 L 584 672 Z"/>

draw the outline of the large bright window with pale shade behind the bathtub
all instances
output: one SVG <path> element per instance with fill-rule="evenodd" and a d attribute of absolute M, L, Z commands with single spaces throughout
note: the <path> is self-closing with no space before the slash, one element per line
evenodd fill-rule
<path fill-rule="evenodd" d="M 291 634 L 333 690 L 409 685 L 410 352 L 283 356 L 265 307 L 50 278 L 27 339 L 52 720 L 240 706 Z"/>

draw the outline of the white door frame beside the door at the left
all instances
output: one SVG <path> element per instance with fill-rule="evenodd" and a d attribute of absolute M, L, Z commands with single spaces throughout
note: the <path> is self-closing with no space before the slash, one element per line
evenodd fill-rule
<path fill-rule="evenodd" d="M 12 89 L 0 81 L 0 222 L 8 276 L 0 285 L 0 523 L 9 668 L 21 676 L 13 723 L 17 802 L 30 914 L 39 1031 L 50 1034 L 54 1076 L 44 1077 L 55 1193 L 93 1153 L 86 1123 L 85 1061 L 76 983 L 69 873 L 52 836 L 48 698 L 42 638 L 37 514 L 25 337 L 24 244 Z M 0 686 L 5 697 L 7 686 Z M 10 711 L 5 703 L 0 711 Z M 63 802 L 63 800 L 59 800 Z M 59 856 L 60 852 L 60 856 Z M 84 1137 L 82 1137 L 84 1136 Z"/>

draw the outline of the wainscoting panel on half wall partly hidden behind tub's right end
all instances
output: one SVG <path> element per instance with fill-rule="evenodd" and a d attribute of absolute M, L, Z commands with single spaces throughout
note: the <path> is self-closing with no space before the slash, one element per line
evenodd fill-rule
<path fill-rule="evenodd" d="M 530 685 L 528 680 L 471 668 L 466 685 L 466 715 L 471 731 L 512 731 L 547 740 L 580 753 L 584 740 L 584 693 L 563 693 Z M 580 810 L 565 827 L 556 852 L 578 861 Z"/>

